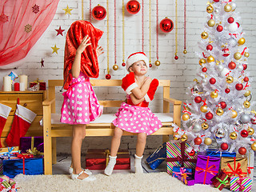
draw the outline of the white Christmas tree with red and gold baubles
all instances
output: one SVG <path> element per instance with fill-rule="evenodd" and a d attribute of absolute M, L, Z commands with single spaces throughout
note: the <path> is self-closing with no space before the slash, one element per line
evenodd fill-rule
<path fill-rule="evenodd" d="M 174 128 L 174 139 L 191 142 L 191 149 L 256 150 L 255 111 L 250 101 L 247 69 L 249 49 L 236 12 L 235 1 L 207 3 L 207 20 L 198 42 L 201 69 L 190 87 L 191 103 L 184 103 L 183 128 Z"/>

